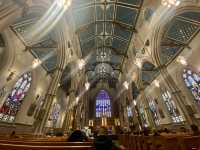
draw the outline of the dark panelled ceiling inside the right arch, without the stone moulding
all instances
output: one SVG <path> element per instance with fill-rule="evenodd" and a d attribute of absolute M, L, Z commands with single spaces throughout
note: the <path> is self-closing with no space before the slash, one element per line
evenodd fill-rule
<path fill-rule="evenodd" d="M 199 31 L 200 12 L 189 11 L 173 18 L 161 42 L 161 63 L 171 62 L 183 48 L 189 47 L 189 43 Z"/>

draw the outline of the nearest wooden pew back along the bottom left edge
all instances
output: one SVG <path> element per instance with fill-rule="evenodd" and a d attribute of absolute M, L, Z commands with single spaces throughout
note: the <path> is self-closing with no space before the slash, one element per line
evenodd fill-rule
<path fill-rule="evenodd" d="M 15 145 L 15 144 L 2 144 L 2 150 L 92 150 L 92 146 L 31 146 L 31 145 Z"/>

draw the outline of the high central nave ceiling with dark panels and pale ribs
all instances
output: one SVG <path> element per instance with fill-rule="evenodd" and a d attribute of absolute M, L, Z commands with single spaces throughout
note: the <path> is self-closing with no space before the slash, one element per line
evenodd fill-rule
<path fill-rule="evenodd" d="M 75 32 L 89 80 L 117 81 L 142 0 L 73 0 Z"/>

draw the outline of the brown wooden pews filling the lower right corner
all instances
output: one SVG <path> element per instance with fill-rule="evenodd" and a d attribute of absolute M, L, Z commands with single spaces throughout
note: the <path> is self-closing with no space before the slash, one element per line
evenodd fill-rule
<path fill-rule="evenodd" d="M 120 135 L 120 144 L 128 150 L 197 150 L 200 136 Z"/>

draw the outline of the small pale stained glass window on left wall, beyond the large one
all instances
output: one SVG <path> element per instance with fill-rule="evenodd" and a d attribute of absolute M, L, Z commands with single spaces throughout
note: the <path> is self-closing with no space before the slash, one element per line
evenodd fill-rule
<path fill-rule="evenodd" d="M 49 116 L 49 121 L 54 121 L 54 122 L 57 122 L 58 118 L 59 118 L 59 115 L 60 115 L 60 104 L 58 103 L 55 103 L 53 105 L 53 108 L 52 108 L 52 111 L 51 111 L 51 114 Z"/>

